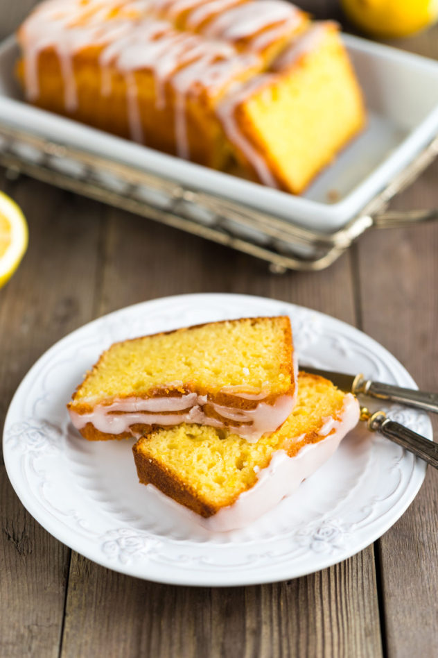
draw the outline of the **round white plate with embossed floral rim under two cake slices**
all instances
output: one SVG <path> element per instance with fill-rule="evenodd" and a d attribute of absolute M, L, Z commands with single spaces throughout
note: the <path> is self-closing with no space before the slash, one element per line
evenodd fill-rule
<path fill-rule="evenodd" d="M 415 387 L 374 340 L 331 317 L 259 297 L 168 297 L 114 312 L 55 344 L 19 386 L 6 418 L 9 478 L 30 514 L 54 537 L 108 568 L 186 585 L 286 580 L 340 562 L 403 514 L 426 472 L 423 462 L 357 428 L 295 496 L 244 530 L 209 534 L 139 484 L 130 441 L 85 441 L 66 403 L 112 342 L 205 321 L 288 314 L 299 358 Z M 392 407 L 394 419 L 432 437 L 426 414 Z"/>

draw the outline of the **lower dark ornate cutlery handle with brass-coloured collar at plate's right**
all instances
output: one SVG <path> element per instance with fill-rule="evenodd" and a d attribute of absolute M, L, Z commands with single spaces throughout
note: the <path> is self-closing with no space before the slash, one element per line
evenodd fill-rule
<path fill-rule="evenodd" d="M 405 428 L 404 425 L 390 420 L 384 412 L 376 412 L 371 415 L 366 407 L 362 407 L 360 412 L 360 419 L 367 421 L 372 432 L 380 432 L 387 439 L 391 439 L 394 443 L 438 469 L 438 444 L 435 444 L 434 441 L 429 441 L 417 432 L 413 432 Z"/>

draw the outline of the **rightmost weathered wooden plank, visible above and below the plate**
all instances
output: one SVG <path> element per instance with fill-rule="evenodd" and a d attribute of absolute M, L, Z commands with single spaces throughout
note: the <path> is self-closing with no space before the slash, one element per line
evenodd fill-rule
<path fill-rule="evenodd" d="M 438 28 L 402 47 L 438 58 Z M 438 162 L 394 201 L 394 208 L 438 205 Z M 376 231 L 358 244 L 363 329 L 437 390 L 438 225 Z M 435 430 L 438 423 L 434 419 Z M 430 469 L 408 512 L 380 540 L 383 607 L 390 657 L 435 655 L 438 612 L 438 480 Z"/>

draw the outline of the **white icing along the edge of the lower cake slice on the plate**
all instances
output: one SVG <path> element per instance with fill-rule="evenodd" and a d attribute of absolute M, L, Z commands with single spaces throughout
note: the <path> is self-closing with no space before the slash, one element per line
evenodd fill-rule
<path fill-rule="evenodd" d="M 359 414 L 358 400 L 351 394 L 347 394 L 344 398 L 340 418 L 324 419 L 321 432 L 327 431 L 331 434 L 328 436 L 322 434 L 326 438 L 317 443 L 304 446 L 295 457 L 288 457 L 286 450 L 277 450 L 272 455 L 269 466 L 258 472 L 256 471 L 257 482 L 254 487 L 240 494 L 233 505 L 223 507 L 217 514 L 209 518 L 203 518 L 183 505 L 176 503 L 175 500 L 162 494 L 152 484 L 148 484 L 148 488 L 155 491 L 159 498 L 166 501 L 168 505 L 178 509 L 180 514 L 186 514 L 186 517 L 191 518 L 207 530 L 211 530 L 211 532 L 227 532 L 236 528 L 243 528 L 278 505 L 280 500 L 294 494 L 301 482 L 319 469 L 319 466 L 322 466 L 333 455 L 344 436 L 356 427 Z M 300 439 L 301 437 L 294 437 L 292 441 L 299 441 Z"/>

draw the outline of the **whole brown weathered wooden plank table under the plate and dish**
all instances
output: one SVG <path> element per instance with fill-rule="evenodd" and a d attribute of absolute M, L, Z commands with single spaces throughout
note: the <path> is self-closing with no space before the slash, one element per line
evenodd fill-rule
<path fill-rule="evenodd" d="M 0 0 L 0 37 L 33 3 Z M 308 8 L 329 16 L 336 4 Z M 398 45 L 437 57 L 438 29 Z M 437 205 L 437 178 L 438 162 L 394 205 Z M 438 389 L 437 224 L 369 232 L 329 270 L 275 276 L 228 248 L 26 177 L 12 181 L 1 171 L 0 189 L 30 228 L 24 262 L 0 291 L 0 427 L 21 378 L 54 341 L 119 307 L 187 292 L 257 294 L 329 313 L 380 341 L 420 387 Z M 33 520 L 3 464 L 0 484 L 1 657 L 436 655 L 432 469 L 374 546 L 308 577 L 229 589 L 107 571 Z"/>

